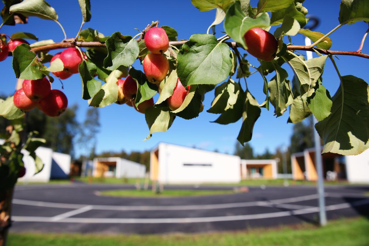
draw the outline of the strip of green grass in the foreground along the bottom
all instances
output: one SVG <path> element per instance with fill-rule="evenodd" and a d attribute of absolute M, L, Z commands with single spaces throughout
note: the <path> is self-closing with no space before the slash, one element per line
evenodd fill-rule
<path fill-rule="evenodd" d="M 31 229 L 31 228 L 30 228 Z M 35 228 L 37 230 L 37 228 Z M 369 245 L 366 218 L 330 221 L 324 228 L 303 224 L 272 229 L 168 235 L 99 235 L 10 233 L 8 245 L 17 246 L 104 246 L 104 245 L 247 245 L 247 246 L 353 246 Z"/>

